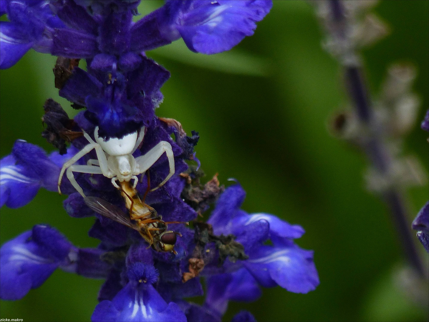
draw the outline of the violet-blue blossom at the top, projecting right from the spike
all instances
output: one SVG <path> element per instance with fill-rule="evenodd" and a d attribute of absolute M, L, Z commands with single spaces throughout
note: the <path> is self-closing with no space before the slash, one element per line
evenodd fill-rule
<path fill-rule="evenodd" d="M 193 52 L 216 54 L 251 36 L 271 1 L 167 1 L 131 28 L 132 50 L 154 49 L 183 38 Z"/>

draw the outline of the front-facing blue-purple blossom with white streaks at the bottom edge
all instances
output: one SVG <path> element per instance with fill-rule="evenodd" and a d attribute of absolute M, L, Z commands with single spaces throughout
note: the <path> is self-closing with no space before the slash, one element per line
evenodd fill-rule
<path fill-rule="evenodd" d="M 151 285 L 158 279 L 152 265 L 131 264 L 128 278 L 128 284 L 112 301 L 101 301 L 97 305 L 92 321 L 186 321 L 178 304 L 167 304 Z"/>

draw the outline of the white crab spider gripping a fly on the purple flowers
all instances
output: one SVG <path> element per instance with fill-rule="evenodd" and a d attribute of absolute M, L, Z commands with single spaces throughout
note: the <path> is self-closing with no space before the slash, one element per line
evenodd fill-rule
<path fill-rule="evenodd" d="M 173 151 L 170 143 L 167 141 L 161 141 L 145 155 L 141 155 L 137 158 L 133 157 L 134 151 L 136 151 L 140 143 L 142 143 L 143 137 L 145 136 L 144 126 L 140 129 L 138 134 L 137 131 L 135 131 L 125 135 L 121 139 L 112 137 L 107 141 L 104 141 L 103 138 L 98 136 L 98 126 L 94 130 L 94 138 L 96 142 L 94 142 L 94 140 L 92 140 L 85 131 L 83 131 L 83 134 L 89 144 L 76 153 L 73 158 L 64 163 L 60 172 L 60 177 L 58 178 L 58 192 L 60 194 L 61 179 L 63 178 L 66 170 L 67 178 L 69 178 L 70 183 L 82 195 L 82 197 L 86 196 L 83 193 L 82 188 L 76 182 L 73 172 L 103 174 L 103 176 L 107 178 L 112 178 L 112 185 L 118 189 L 119 186 L 116 183 L 116 180 L 119 180 L 119 182 L 128 182 L 131 179 L 134 179 L 133 188 L 136 188 L 138 180 L 137 175 L 145 173 L 146 170 L 148 170 L 164 152 L 168 158 L 170 172 L 163 182 L 161 182 L 156 188 L 151 189 L 151 191 L 156 190 L 166 183 L 175 172 Z M 91 152 L 92 149 L 95 149 L 98 160 L 90 159 L 88 160 L 87 165 L 75 164 L 80 158 Z"/>

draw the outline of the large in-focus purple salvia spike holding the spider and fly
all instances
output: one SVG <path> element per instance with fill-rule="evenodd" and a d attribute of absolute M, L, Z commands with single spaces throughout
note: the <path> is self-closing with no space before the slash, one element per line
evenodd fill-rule
<path fill-rule="evenodd" d="M 296 293 L 317 287 L 313 252 L 294 242 L 302 227 L 241 210 L 239 183 L 225 189 L 215 176 L 201 185 L 193 152 L 198 133 L 189 137 L 178 121 L 154 113 L 170 74 L 146 50 L 179 38 L 194 52 L 229 50 L 253 34 L 271 1 L 167 1 L 137 22 L 139 1 L 0 4 L 9 18 L 1 21 L 0 67 L 30 48 L 60 56 L 55 86 L 74 108 L 85 108 L 70 120 L 46 101 L 42 135 L 59 152 L 47 155 L 17 140 L 0 164 L 1 206 L 22 207 L 41 187 L 59 190 L 69 195 L 63 206 L 70 216 L 95 217 L 88 234 L 100 240 L 97 248 L 80 249 L 54 228 L 36 225 L 5 243 L 2 299 L 23 298 L 61 268 L 105 279 L 93 321 L 220 321 L 229 301 L 255 301 L 261 286 Z M 127 152 L 117 152 L 129 142 Z M 145 158 L 151 164 L 142 170 Z M 133 177 L 131 164 L 140 169 Z M 212 203 L 208 221 L 197 221 Z M 133 218 L 137 207 L 150 214 Z M 207 292 L 197 305 L 186 298 L 203 295 L 200 278 Z M 241 311 L 233 321 L 255 319 Z"/>

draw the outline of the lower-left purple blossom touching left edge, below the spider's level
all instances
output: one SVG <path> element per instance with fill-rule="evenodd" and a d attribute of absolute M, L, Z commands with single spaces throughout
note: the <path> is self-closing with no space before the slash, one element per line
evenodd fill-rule
<path fill-rule="evenodd" d="M 41 286 L 59 266 L 68 267 L 76 250 L 47 225 L 36 225 L 0 249 L 0 298 L 19 300 Z"/>

